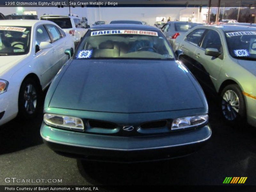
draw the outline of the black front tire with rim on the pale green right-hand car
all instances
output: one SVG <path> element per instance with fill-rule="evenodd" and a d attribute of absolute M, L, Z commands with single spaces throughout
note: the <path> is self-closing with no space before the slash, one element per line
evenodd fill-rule
<path fill-rule="evenodd" d="M 225 120 L 232 125 L 242 123 L 246 117 L 246 106 L 240 87 L 230 84 L 222 90 L 220 96 L 220 109 Z"/>

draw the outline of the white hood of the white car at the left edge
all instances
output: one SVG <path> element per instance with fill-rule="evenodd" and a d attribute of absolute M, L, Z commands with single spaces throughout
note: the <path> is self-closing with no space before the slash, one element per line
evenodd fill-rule
<path fill-rule="evenodd" d="M 0 76 L 19 64 L 20 60 L 24 59 L 25 57 L 26 55 L 0 56 Z"/>

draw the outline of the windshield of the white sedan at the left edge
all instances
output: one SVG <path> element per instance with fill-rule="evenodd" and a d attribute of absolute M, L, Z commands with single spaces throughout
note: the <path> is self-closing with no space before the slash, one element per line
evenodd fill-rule
<path fill-rule="evenodd" d="M 31 27 L 0 26 L 0 56 L 29 52 Z"/>

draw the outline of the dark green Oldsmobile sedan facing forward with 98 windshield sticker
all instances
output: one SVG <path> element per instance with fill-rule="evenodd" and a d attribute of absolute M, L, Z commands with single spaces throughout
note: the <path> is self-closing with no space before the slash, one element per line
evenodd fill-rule
<path fill-rule="evenodd" d="M 47 92 L 40 132 L 59 154 L 121 162 L 188 155 L 211 137 L 202 88 L 159 29 L 137 24 L 89 29 Z"/>

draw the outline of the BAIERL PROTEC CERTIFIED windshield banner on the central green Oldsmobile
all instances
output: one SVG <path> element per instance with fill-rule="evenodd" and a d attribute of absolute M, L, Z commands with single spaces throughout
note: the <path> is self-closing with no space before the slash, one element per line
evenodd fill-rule
<path fill-rule="evenodd" d="M 91 32 L 91 36 L 111 35 L 111 34 L 135 34 L 135 35 L 158 36 L 158 33 L 155 31 L 143 31 L 143 30 L 104 30 L 104 31 Z"/>

